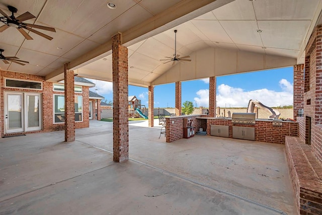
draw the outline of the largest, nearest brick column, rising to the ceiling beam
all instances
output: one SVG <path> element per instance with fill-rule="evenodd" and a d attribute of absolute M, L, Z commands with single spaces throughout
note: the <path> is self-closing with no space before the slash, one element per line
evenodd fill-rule
<path fill-rule="evenodd" d="M 129 159 L 128 50 L 121 45 L 121 37 L 120 33 L 112 37 L 113 160 L 116 162 Z"/>

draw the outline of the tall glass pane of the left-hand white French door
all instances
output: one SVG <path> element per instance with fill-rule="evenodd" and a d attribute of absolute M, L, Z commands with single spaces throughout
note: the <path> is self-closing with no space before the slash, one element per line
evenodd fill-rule
<path fill-rule="evenodd" d="M 8 128 L 22 128 L 21 95 L 8 95 Z"/>

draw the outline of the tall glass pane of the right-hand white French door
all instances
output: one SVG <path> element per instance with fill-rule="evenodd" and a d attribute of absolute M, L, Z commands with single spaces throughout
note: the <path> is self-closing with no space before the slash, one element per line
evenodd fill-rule
<path fill-rule="evenodd" d="M 39 96 L 27 96 L 28 127 L 39 126 Z"/>

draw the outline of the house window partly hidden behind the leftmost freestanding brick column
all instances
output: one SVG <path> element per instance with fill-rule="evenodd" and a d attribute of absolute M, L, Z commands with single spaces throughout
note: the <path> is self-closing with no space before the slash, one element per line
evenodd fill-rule
<path fill-rule="evenodd" d="M 83 121 L 83 97 L 75 96 L 75 122 Z M 54 123 L 65 121 L 65 96 L 54 95 Z"/>

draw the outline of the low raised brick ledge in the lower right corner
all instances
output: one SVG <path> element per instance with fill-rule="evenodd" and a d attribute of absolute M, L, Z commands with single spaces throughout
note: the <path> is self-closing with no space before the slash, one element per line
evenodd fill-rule
<path fill-rule="evenodd" d="M 299 214 L 322 214 L 322 165 L 299 137 L 285 137 L 288 167 Z"/>

